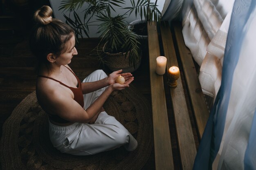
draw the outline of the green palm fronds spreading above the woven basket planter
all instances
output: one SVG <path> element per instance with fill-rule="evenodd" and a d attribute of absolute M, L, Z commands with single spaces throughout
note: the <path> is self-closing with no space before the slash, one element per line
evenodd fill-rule
<path fill-rule="evenodd" d="M 137 35 L 128 29 L 125 22 L 126 15 L 130 16 L 135 13 L 141 20 L 159 22 L 162 18 L 161 12 L 157 9 L 157 0 L 155 3 L 150 0 L 130 0 L 131 7 L 123 8 L 126 0 L 62 0 L 59 10 L 69 12 L 64 15 L 66 23 L 75 30 L 76 38 L 85 34 L 89 37 L 89 28 L 94 23 L 97 24 L 97 33 L 99 33 L 101 41 L 94 50 L 101 61 L 105 60 L 106 53 L 103 51 L 103 45 L 107 52 L 125 53 L 125 57 L 129 57 L 130 64 L 136 64 L 140 55 L 140 43 Z M 111 12 L 115 9 L 126 9 L 124 14 L 118 14 L 113 17 Z M 82 10 L 81 10 L 82 9 Z M 79 12 L 82 11 L 83 19 L 79 18 Z M 72 15 L 71 15 L 72 14 Z M 72 17 L 71 17 L 72 16 Z M 92 18 L 96 20 L 92 20 Z M 130 51 L 130 53 L 126 53 Z M 135 65 L 134 65 L 135 67 Z"/>

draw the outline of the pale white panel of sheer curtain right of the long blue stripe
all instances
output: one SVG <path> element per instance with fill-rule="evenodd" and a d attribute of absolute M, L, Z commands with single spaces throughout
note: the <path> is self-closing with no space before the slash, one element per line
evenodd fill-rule
<path fill-rule="evenodd" d="M 213 162 L 216 169 L 244 169 L 243 161 L 256 107 L 255 16 L 254 11 L 245 26 L 247 33 L 234 71 L 224 133 L 220 150 Z"/>

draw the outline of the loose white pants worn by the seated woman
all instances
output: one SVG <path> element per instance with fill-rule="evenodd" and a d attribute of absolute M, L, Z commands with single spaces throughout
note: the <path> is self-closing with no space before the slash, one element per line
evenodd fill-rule
<path fill-rule="evenodd" d="M 107 77 L 97 70 L 83 82 L 94 82 Z M 84 108 L 88 108 L 107 87 L 84 95 Z M 70 126 L 56 126 L 49 121 L 49 136 L 54 147 L 72 155 L 93 155 L 123 146 L 135 150 L 137 141 L 128 130 L 105 111 L 101 112 L 94 124 L 74 123 Z"/>

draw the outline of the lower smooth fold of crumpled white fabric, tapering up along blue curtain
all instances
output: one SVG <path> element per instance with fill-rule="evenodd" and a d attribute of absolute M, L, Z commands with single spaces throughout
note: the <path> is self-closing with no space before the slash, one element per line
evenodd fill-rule
<path fill-rule="evenodd" d="M 220 29 L 218 29 L 208 44 L 206 55 L 200 67 L 199 81 L 202 86 L 202 91 L 204 94 L 214 98 L 221 84 L 222 63 L 230 18 L 231 10 L 222 22 Z"/>

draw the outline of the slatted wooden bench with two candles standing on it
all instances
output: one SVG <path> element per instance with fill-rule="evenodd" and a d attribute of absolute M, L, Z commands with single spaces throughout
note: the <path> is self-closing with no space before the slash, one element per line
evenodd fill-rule
<path fill-rule="evenodd" d="M 175 38 L 173 38 L 170 26 L 167 23 L 161 23 L 159 28 L 160 30 L 157 31 L 157 26 L 155 26 L 154 23 L 148 22 L 155 166 L 156 170 L 173 170 L 173 154 L 170 131 L 168 130 L 169 124 L 165 97 L 166 90 L 164 89 L 164 84 L 167 82 L 164 82 L 163 78 L 166 74 L 162 76 L 155 73 L 156 58 L 160 56 L 160 45 L 163 49 L 162 55 L 167 58 L 166 73 L 168 68 L 171 66 L 179 66 L 177 61 L 181 61 L 180 68 L 182 67 L 184 73 L 190 106 L 193 111 L 199 139 L 202 137 L 204 127 L 209 117 L 209 111 L 195 70 L 193 57 L 184 44 L 181 24 L 172 24 Z M 158 35 L 160 32 L 161 37 L 159 38 Z M 162 41 L 159 42 L 159 39 Z M 176 49 L 175 46 L 177 46 Z M 180 59 L 177 60 L 177 57 L 180 57 Z M 182 169 L 192 170 L 197 150 L 181 78 L 177 80 L 176 88 L 171 88 L 169 86 L 168 88 L 171 95 L 171 105 L 173 107 L 177 145 L 179 148 Z"/>

